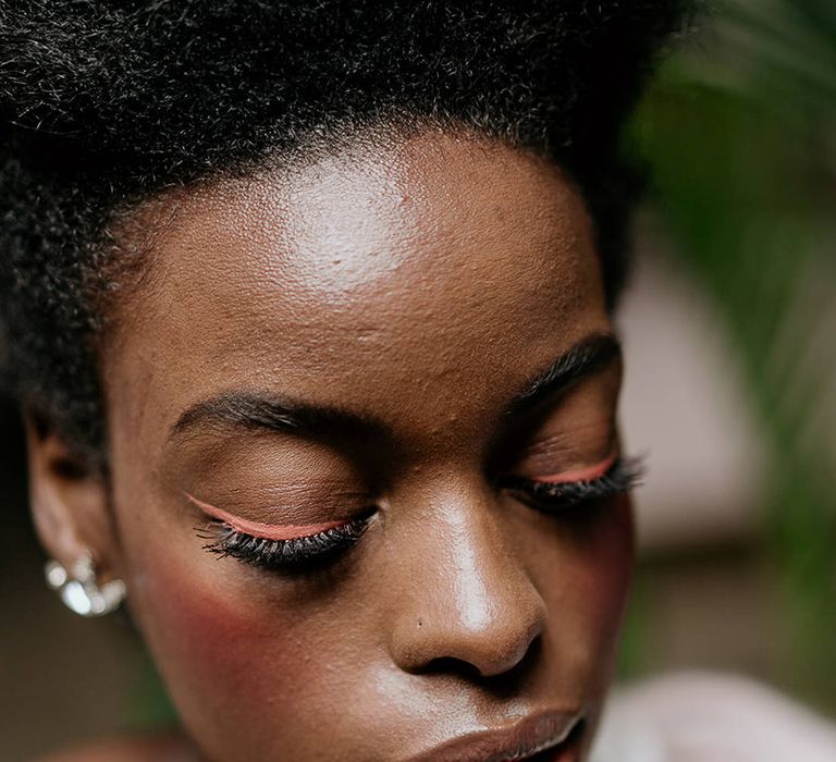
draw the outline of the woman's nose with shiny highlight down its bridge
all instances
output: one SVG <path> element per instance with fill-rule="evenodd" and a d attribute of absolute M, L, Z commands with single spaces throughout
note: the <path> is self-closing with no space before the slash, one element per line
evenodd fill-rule
<path fill-rule="evenodd" d="M 434 518 L 413 544 L 415 562 L 401 567 L 406 579 L 398 580 L 391 652 L 406 672 L 501 675 L 543 631 L 545 603 L 487 500 L 459 494 L 433 506 Z"/>

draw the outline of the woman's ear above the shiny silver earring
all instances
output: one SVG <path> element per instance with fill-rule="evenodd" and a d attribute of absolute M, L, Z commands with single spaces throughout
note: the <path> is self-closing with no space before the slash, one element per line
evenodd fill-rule
<path fill-rule="evenodd" d="M 29 504 L 47 553 L 65 568 L 88 551 L 102 578 L 114 576 L 115 533 L 106 476 L 48 421 L 24 414 Z"/>

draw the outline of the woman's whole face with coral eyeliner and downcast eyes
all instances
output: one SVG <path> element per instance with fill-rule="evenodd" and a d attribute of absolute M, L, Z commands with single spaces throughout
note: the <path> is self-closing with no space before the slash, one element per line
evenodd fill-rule
<path fill-rule="evenodd" d="M 516 759 L 577 717 L 537 759 L 582 755 L 631 525 L 564 176 L 372 142 L 192 193 L 149 256 L 102 358 L 115 570 L 207 757 Z"/>

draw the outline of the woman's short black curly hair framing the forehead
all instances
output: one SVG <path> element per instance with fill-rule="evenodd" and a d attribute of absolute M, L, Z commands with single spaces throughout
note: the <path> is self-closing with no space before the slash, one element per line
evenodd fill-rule
<path fill-rule="evenodd" d="M 676 0 L 0 0 L 5 380 L 102 455 L 114 219 L 311 139 L 422 120 L 561 165 L 620 286 L 637 173 L 619 134 Z M 123 255 L 124 256 L 124 255 Z"/>

